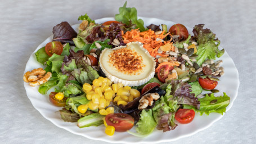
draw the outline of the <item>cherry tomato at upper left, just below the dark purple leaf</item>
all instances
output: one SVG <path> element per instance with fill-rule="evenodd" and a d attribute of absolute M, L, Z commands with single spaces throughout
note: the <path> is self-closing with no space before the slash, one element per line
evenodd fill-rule
<path fill-rule="evenodd" d="M 53 53 L 56 53 L 57 55 L 61 55 L 63 51 L 63 46 L 60 42 L 50 42 L 46 44 L 45 47 L 46 53 L 48 56 L 52 56 Z"/>

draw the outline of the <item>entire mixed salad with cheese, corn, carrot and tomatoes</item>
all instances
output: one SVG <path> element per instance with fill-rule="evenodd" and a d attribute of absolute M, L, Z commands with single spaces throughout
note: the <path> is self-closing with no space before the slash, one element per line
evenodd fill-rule
<path fill-rule="evenodd" d="M 78 33 L 68 22 L 56 25 L 52 42 L 35 52 L 45 68 L 26 72 L 24 82 L 43 95 L 51 91 L 65 122 L 105 125 L 110 136 L 146 137 L 155 128 L 175 131 L 195 113 L 226 112 L 230 97 L 214 96 L 224 74 L 222 61 L 215 61 L 224 53 L 215 34 L 203 24 L 194 26 L 194 35 L 182 24 L 144 27 L 126 4 L 116 21 L 96 24 L 80 16 Z"/>

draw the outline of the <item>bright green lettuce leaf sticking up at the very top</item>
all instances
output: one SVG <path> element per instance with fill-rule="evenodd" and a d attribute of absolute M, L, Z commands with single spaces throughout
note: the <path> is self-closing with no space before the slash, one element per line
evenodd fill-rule
<path fill-rule="evenodd" d="M 121 21 L 126 25 L 136 24 L 136 29 L 140 28 L 140 31 L 145 31 L 144 21 L 142 19 L 138 19 L 137 17 L 137 10 L 134 7 L 126 7 L 127 2 L 124 3 L 123 7 L 119 7 L 119 14 L 115 15 L 115 20 Z"/>

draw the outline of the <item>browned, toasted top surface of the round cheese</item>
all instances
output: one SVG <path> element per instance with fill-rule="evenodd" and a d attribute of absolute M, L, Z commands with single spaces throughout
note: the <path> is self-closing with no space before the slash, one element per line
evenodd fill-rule
<path fill-rule="evenodd" d="M 145 67 L 142 56 L 127 47 L 111 52 L 109 63 L 118 71 L 129 75 L 140 74 L 142 68 Z"/>

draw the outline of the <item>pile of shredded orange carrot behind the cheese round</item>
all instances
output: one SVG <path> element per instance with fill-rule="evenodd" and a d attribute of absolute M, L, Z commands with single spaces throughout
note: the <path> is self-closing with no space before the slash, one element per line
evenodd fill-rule
<path fill-rule="evenodd" d="M 122 31 L 124 43 L 129 43 L 129 42 L 141 42 L 143 43 L 143 48 L 145 48 L 147 51 L 149 51 L 150 55 L 155 57 L 156 55 L 159 56 L 167 56 L 164 55 L 163 53 L 158 53 L 158 49 L 160 46 L 164 46 L 165 44 L 169 43 L 172 47 L 170 51 L 174 51 L 174 46 L 172 42 L 164 41 L 161 42 L 161 40 L 156 40 L 156 39 L 163 39 L 169 35 L 169 33 L 164 35 L 164 31 L 161 34 L 156 35 L 155 31 L 149 29 L 147 31 L 140 32 L 138 29 L 133 29 L 131 31 L 127 31 L 125 34 Z"/>

